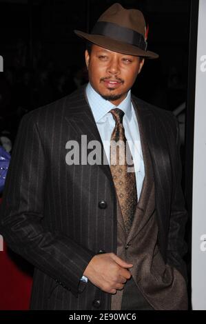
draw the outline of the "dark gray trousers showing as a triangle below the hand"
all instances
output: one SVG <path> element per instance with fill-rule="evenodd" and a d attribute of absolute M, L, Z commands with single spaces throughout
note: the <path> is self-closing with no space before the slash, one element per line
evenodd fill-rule
<path fill-rule="evenodd" d="M 121 310 L 154 310 L 143 294 L 138 290 L 132 277 L 125 283 Z"/>

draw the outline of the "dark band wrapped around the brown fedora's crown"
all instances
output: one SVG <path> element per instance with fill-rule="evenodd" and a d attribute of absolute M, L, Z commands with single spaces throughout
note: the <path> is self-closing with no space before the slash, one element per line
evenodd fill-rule
<path fill-rule="evenodd" d="M 116 41 L 123 41 L 124 43 L 137 46 L 141 50 L 146 50 L 147 48 L 147 42 L 142 34 L 130 28 L 121 27 L 116 23 L 97 21 L 92 29 L 92 34 L 99 34 L 115 39 Z"/>

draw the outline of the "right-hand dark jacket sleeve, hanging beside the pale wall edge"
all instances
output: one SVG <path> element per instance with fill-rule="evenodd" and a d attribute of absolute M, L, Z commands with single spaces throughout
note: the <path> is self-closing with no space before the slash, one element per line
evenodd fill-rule
<path fill-rule="evenodd" d="M 183 261 L 183 256 L 187 252 L 185 242 L 185 225 L 187 223 L 187 210 L 185 210 L 185 199 L 181 188 L 182 165 L 180 156 L 180 138 L 178 121 L 176 123 L 176 152 L 175 157 L 175 189 L 172 199 L 171 214 L 169 221 L 169 235 L 167 245 L 167 263 L 176 267 L 187 281 L 187 267 Z"/>

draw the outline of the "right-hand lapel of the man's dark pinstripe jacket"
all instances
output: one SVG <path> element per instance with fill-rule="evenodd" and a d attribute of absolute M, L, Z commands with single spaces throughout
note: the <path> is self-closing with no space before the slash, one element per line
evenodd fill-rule
<path fill-rule="evenodd" d="M 145 141 L 152 159 L 154 172 L 156 214 L 158 218 L 158 226 L 167 228 L 169 219 L 165 216 L 170 210 L 170 196 L 172 174 L 170 172 L 169 148 L 165 133 L 163 132 L 163 124 L 156 117 L 152 108 L 138 102 L 138 99 L 132 98 L 134 108 L 138 112 L 138 119 L 143 127 Z M 166 226 L 166 227 L 165 227 Z"/>

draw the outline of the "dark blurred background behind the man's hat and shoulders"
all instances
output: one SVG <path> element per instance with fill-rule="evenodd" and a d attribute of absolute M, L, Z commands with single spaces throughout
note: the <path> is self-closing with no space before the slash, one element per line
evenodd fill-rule
<path fill-rule="evenodd" d="M 115 2 L 0 0 L 0 55 L 4 63 L 4 72 L 0 73 L 0 135 L 14 143 L 23 114 L 64 97 L 87 82 L 85 43 L 73 30 L 90 32 L 103 11 Z M 145 61 L 133 93 L 161 108 L 174 110 L 187 101 L 191 1 L 119 3 L 143 12 L 149 24 L 148 49 L 160 56 Z M 182 117 L 180 124 L 185 121 L 184 113 Z M 183 128 L 185 191 L 184 143 Z M 190 223 L 187 227 L 186 261 L 190 273 Z"/>

